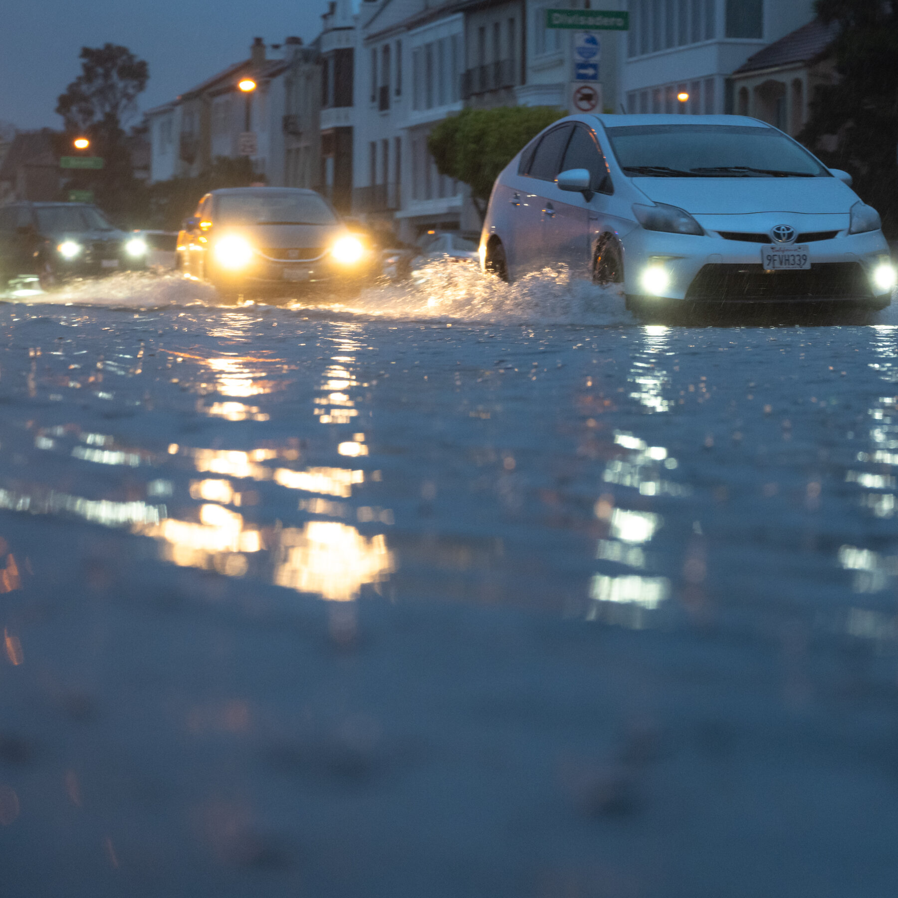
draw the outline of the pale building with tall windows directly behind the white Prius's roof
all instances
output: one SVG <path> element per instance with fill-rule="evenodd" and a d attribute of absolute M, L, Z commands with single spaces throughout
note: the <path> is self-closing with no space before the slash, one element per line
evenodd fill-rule
<path fill-rule="evenodd" d="M 629 0 L 627 8 L 628 112 L 733 111 L 730 75 L 814 18 L 813 0 Z"/>

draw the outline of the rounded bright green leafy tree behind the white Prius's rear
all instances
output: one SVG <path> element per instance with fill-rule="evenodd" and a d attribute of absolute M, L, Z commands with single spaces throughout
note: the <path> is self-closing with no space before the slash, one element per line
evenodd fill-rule
<path fill-rule="evenodd" d="M 427 149 L 440 174 L 471 188 L 471 198 L 482 218 L 499 172 L 543 128 L 565 115 L 554 106 L 465 109 L 430 132 Z"/>

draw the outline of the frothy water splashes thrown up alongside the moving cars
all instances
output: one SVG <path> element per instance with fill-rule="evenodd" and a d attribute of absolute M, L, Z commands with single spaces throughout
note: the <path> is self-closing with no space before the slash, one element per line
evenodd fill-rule
<path fill-rule="evenodd" d="M 152 310 L 171 306 L 222 304 L 213 286 L 176 272 L 122 272 L 74 281 L 49 292 L 37 283 L 0 298 L 25 304 L 104 306 Z M 602 288 L 571 277 L 564 267 L 543 269 L 505 284 L 473 266 L 438 260 L 414 281 L 366 288 L 354 300 L 331 301 L 326 294 L 292 295 L 271 302 L 321 317 L 377 317 L 427 321 L 501 321 L 533 324 L 631 324 L 617 287 Z"/>

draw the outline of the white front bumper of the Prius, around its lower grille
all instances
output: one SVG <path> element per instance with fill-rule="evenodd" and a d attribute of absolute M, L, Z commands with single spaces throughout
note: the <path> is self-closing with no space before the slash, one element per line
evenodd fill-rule
<path fill-rule="evenodd" d="M 762 244 L 719 237 L 637 228 L 623 239 L 623 247 L 625 292 L 647 295 L 644 273 L 660 268 L 667 283 L 653 296 L 659 302 L 882 304 L 891 295 L 873 278 L 889 253 L 878 231 L 811 242 L 811 269 L 804 271 L 765 272 Z"/>

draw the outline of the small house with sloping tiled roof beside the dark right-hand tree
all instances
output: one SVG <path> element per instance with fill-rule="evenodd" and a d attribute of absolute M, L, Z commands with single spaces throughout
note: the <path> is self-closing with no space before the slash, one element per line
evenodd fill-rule
<path fill-rule="evenodd" d="M 797 136 L 815 89 L 836 76 L 827 49 L 837 31 L 835 23 L 814 19 L 748 57 L 733 73 L 734 111 Z"/>

